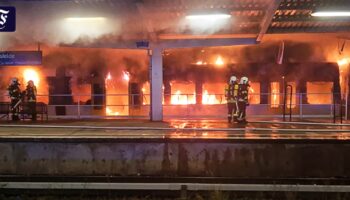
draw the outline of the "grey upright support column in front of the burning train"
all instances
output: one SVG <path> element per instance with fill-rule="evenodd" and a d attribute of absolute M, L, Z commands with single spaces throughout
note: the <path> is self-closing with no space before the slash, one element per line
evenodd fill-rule
<path fill-rule="evenodd" d="M 163 58 L 161 48 L 151 51 L 151 121 L 163 120 Z"/>

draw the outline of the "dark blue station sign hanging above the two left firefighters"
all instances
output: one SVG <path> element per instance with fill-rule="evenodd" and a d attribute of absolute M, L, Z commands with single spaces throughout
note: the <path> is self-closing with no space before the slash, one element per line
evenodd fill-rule
<path fill-rule="evenodd" d="M 41 51 L 0 51 L 0 66 L 41 65 Z"/>

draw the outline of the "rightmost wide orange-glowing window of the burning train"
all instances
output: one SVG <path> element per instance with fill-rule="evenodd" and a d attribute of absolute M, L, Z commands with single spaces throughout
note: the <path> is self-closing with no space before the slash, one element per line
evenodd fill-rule
<path fill-rule="evenodd" d="M 331 104 L 332 82 L 307 82 L 307 102 L 309 104 Z"/>

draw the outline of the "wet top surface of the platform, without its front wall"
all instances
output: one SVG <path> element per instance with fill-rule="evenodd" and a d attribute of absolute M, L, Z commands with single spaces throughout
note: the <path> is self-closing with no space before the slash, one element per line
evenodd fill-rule
<path fill-rule="evenodd" d="M 350 141 L 350 123 L 330 120 L 285 123 L 250 120 L 50 120 L 2 122 L 0 140 L 6 139 L 196 139 L 196 140 L 339 140 Z"/>

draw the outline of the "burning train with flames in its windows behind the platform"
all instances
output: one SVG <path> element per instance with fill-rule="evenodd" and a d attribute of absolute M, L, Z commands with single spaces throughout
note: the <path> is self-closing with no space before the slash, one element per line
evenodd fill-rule
<path fill-rule="evenodd" d="M 50 115 L 144 116 L 150 106 L 148 58 L 145 52 L 112 50 L 44 51 L 43 66 L 4 67 L 6 80 L 33 80 L 38 101 L 49 105 Z M 348 62 L 237 62 L 216 53 L 211 62 L 197 55 L 191 59 L 168 52 L 163 57 L 163 112 L 165 116 L 224 117 L 224 88 L 231 75 L 250 79 L 250 115 L 279 115 L 284 86 L 292 86 L 294 114 L 327 115 L 333 93 L 347 94 Z"/>

